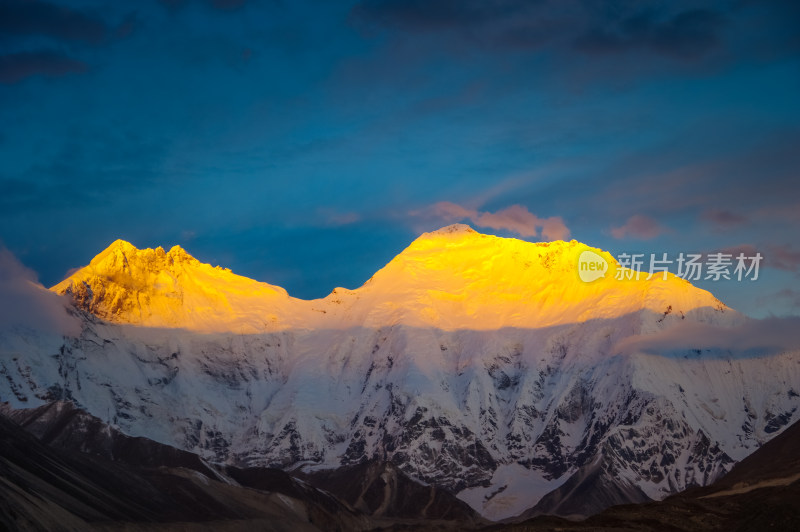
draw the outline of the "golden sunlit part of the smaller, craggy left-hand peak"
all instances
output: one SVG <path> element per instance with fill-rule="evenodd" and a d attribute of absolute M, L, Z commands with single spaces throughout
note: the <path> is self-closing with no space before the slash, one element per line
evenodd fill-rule
<path fill-rule="evenodd" d="M 263 330 L 283 288 L 201 263 L 180 246 L 138 249 L 124 240 L 51 288 L 101 318 L 203 331 Z"/>

